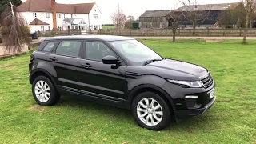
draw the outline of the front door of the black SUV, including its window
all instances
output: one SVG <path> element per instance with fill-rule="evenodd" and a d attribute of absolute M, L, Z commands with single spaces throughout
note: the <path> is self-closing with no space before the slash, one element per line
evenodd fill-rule
<path fill-rule="evenodd" d="M 91 97 L 121 102 L 125 98 L 126 65 L 106 65 L 102 58 L 116 54 L 103 42 L 85 42 L 82 51 L 81 93 Z"/>

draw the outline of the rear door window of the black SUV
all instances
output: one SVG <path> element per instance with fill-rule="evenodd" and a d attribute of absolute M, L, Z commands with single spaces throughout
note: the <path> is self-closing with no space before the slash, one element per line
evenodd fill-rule
<path fill-rule="evenodd" d="M 80 41 L 62 41 L 56 49 L 56 54 L 79 57 L 81 44 Z"/>

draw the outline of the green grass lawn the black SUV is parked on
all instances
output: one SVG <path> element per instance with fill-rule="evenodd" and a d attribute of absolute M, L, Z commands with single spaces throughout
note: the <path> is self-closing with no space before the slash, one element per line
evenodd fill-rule
<path fill-rule="evenodd" d="M 141 41 L 165 58 L 208 68 L 214 106 L 159 132 L 138 127 L 129 110 L 93 102 L 62 97 L 38 106 L 24 54 L 0 61 L 0 143 L 256 143 L 256 41 Z"/>

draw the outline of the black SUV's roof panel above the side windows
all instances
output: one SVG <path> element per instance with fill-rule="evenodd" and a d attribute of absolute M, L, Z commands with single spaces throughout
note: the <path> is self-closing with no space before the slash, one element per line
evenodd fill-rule
<path fill-rule="evenodd" d="M 61 37 L 52 37 L 45 38 L 44 40 L 69 40 L 69 39 L 84 39 L 92 41 L 122 41 L 122 40 L 131 40 L 134 38 L 114 36 L 114 35 L 74 35 L 74 36 L 61 36 Z"/>

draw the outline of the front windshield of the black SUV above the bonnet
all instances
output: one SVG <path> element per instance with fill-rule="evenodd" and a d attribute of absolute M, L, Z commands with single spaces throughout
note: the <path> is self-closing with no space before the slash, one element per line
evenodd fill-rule
<path fill-rule="evenodd" d="M 151 60 L 162 60 L 160 55 L 137 40 L 114 41 L 110 45 L 133 66 L 142 66 Z"/>

